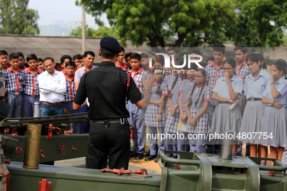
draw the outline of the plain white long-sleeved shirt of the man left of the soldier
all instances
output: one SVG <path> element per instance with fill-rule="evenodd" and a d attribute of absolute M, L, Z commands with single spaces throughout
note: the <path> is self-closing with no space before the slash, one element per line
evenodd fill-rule
<path fill-rule="evenodd" d="M 51 76 L 51 74 L 45 71 L 38 76 L 38 83 L 40 88 L 47 89 L 39 89 L 40 101 L 46 101 L 49 103 L 64 101 L 64 95 L 48 91 L 51 90 L 63 94 L 66 93 L 66 78 L 62 72 L 55 70 L 53 76 Z"/>

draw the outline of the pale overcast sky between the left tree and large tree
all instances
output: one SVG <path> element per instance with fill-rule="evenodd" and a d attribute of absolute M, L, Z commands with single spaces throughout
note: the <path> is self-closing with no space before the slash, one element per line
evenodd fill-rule
<path fill-rule="evenodd" d="M 82 8 L 75 5 L 75 0 L 29 0 L 28 7 L 38 11 L 40 18 L 38 25 L 50 25 L 57 20 L 65 23 L 82 21 Z M 97 29 L 95 18 L 85 14 L 86 24 Z M 106 19 L 105 19 L 106 20 Z M 107 26 L 108 21 L 105 21 Z M 74 28 L 74 26 L 72 26 Z"/>

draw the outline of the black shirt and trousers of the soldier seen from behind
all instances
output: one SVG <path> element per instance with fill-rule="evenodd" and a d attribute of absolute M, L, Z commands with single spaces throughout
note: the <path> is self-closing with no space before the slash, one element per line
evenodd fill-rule
<path fill-rule="evenodd" d="M 130 80 L 127 98 L 136 103 L 142 99 L 142 95 L 133 78 Z M 113 120 L 129 117 L 125 105 L 126 90 L 127 73 L 113 62 L 101 62 L 99 67 L 82 76 L 74 103 L 81 105 L 88 97 L 88 116 L 93 119 L 89 130 L 86 168 L 105 168 L 109 156 L 110 169 L 128 169 L 129 124 L 126 119 L 124 124 L 112 123 Z"/>

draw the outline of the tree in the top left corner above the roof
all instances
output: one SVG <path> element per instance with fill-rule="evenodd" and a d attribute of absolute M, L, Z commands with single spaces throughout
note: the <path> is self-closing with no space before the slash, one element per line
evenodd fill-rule
<path fill-rule="evenodd" d="M 39 34 L 38 12 L 28 9 L 29 0 L 0 0 L 0 33 Z"/>

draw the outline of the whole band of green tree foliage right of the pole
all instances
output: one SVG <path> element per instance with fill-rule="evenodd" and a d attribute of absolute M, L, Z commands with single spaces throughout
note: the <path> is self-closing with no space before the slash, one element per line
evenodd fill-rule
<path fill-rule="evenodd" d="M 285 0 L 81 0 L 102 24 L 106 13 L 121 44 L 151 47 L 213 46 L 233 41 L 278 46 L 287 26 Z"/>

